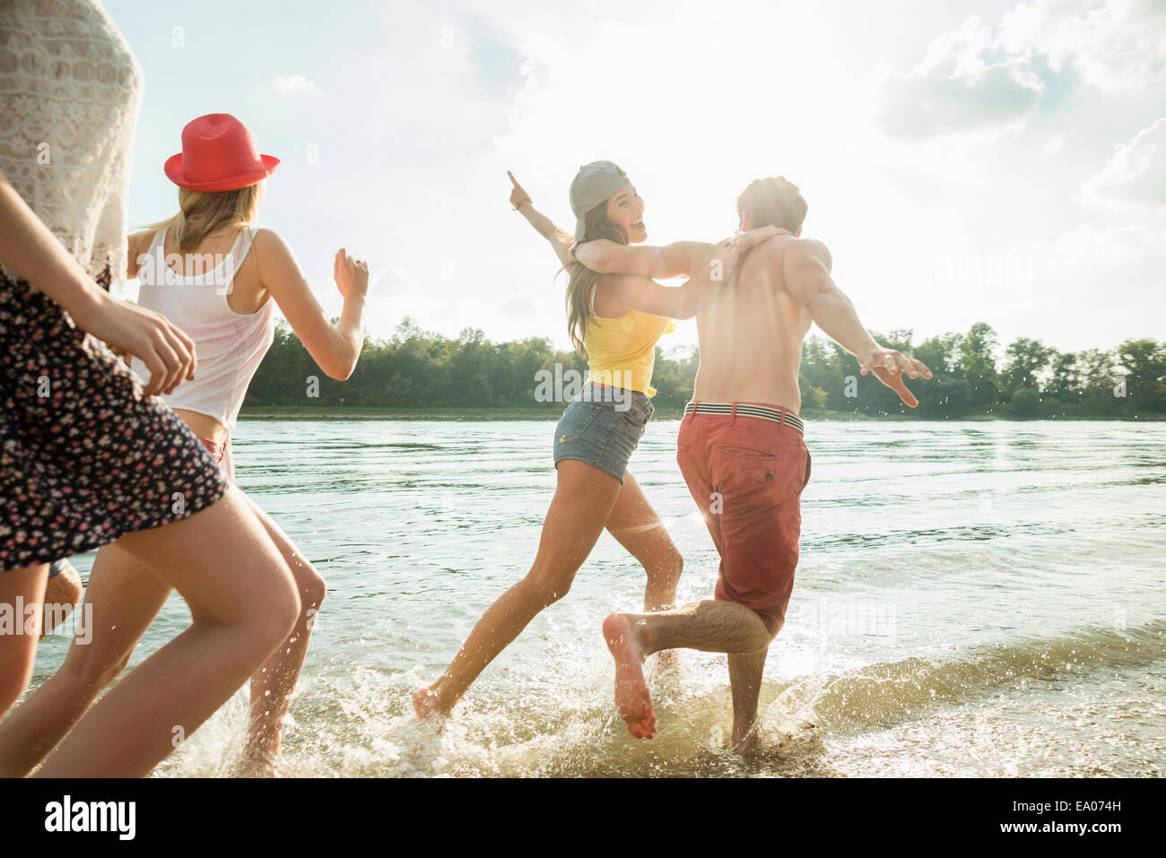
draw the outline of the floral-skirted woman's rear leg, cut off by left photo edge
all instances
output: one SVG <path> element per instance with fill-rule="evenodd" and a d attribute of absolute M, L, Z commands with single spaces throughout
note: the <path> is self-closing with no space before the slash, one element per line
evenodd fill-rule
<path fill-rule="evenodd" d="M 48 563 L 0 572 L 0 611 L 8 619 L 0 633 L 0 717 L 20 699 L 33 678 L 48 577 Z M 30 606 L 35 616 L 29 614 Z"/>

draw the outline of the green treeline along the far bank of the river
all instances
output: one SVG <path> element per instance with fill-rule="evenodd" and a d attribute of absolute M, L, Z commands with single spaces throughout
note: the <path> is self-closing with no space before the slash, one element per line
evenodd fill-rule
<path fill-rule="evenodd" d="M 999 356 L 996 332 L 984 323 L 967 333 L 914 343 L 911 331 L 876 335 L 913 354 L 935 373 L 909 381 L 919 408 L 909 409 L 873 375 L 862 377 L 837 345 L 812 337 L 802 350 L 802 412 L 858 413 L 920 419 L 1166 416 L 1166 343 L 1131 339 L 1112 351 L 1059 352 L 1021 337 Z M 656 349 L 653 386 L 658 412 L 679 412 L 693 392 L 695 350 Z M 283 323 L 259 367 L 245 406 L 545 407 L 548 379 L 570 394 L 586 361 L 556 351 L 547 338 L 491 343 L 466 329 L 457 339 L 422 331 L 406 318 L 387 340 L 366 338 L 352 377 L 325 377 Z M 559 382 L 556 385 L 556 381 Z M 540 393 L 541 389 L 541 393 Z"/>

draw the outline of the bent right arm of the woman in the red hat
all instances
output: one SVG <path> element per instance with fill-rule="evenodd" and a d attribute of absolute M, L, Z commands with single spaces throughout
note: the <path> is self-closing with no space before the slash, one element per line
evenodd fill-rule
<path fill-rule="evenodd" d="M 312 360 L 330 378 L 347 379 L 364 345 L 361 317 L 368 290 L 368 266 L 353 260 L 343 248 L 336 252 L 332 270 L 344 296 L 344 309 L 333 328 L 282 237 L 271 230 L 259 230 L 254 246 L 264 288 L 275 298 Z"/>

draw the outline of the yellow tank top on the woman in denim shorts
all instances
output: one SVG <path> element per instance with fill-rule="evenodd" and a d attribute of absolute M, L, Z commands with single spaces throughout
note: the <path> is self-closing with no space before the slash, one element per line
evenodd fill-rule
<path fill-rule="evenodd" d="M 655 344 L 674 330 L 675 319 L 641 310 L 628 310 L 617 318 L 592 318 L 583 333 L 590 368 L 588 380 L 655 396 L 652 387 Z"/>

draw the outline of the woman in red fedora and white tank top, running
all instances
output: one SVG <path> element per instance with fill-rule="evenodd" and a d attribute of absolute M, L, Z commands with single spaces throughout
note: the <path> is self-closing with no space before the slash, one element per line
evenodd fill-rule
<path fill-rule="evenodd" d="M 351 375 L 364 342 L 367 265 L 344 249 L 337 252 L 333 274 L 344 310 L 332 325 L 283 239 L 272 230 L 253 228 L 265 180 L 278 163 L 259 154 L 251 133 L 234 117 L 199 117 L 182 132 L 182 153 L 164 166 L 180 188 L 178 213 L 129 237 L 127 273 L 141 283 L 140 305 L 189 336 L 198 354 L 195 378 L 168 393 L 166 402 L 231 481 L 231 431 L 272 344 L 275 305 L 331 378 Z M 132 366 L 146 373 L 139 359 Z M 257 774 L 278 759 L 280 727 L 325 588 L 287 534 L 243 497 L 290 568 L 301 603 L 290 634 L 252 675 L 241 771 Z M 91 640 L 75 641 L 62 669 L 0 726 L 0 774 L 26 774 L 52 748 L 126 667 L 169 593 L 167 582 L 117 544 L 98 553 L 86 592 L 96 620 Z"/>

